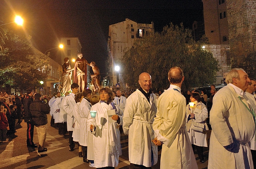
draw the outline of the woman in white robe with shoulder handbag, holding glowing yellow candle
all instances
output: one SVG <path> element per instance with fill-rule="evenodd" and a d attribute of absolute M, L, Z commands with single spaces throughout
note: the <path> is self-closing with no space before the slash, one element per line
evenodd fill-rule
<path fill-rule="evenodd" d="M 186 107 L 187 134 L 193 149 L 195 150 L 195 147 L 197 149 L 200 162 L 204 163 L 203 147 L 207 147 L 207 139 L 206 133 L 203 131 L 209 130 L 206 124 L 206 119 L 208 118 L 208 110 L 205 104 L 200 102 L 200 95 L 198 93 L 191 94 L 190 102 L 194 103 L 194 106 L 189 106 L 188 104 Z"/>

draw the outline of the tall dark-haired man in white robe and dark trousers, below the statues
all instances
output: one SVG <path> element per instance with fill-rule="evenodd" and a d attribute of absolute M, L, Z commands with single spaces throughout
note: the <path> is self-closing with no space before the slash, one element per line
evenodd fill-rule
<path fill-rule="evenodd" d="M 75 120 L 74 120 L 74 116 L 73 116 L 73 110 L 74 110 L 74 107 L 75 107 L 75 104 L 76 104 L 76 101 L 75 101 L 75 95 L 77 94 L 78 92 L 78 88 L 79 88 L 79 85 L 77 83 L 73 83 L 71 84 L 71 90 L 72 90 L 72 93 L 70 93 L 68 96 L 65 97 L 65 100 L 64 100 L 64 103 L 63 103 L 63 109 L 64 111 L 68 114 L 67 116 L 67 130 L 69 132 L 69 151 L 74 151 L 74 147 L 75 147 L 75 143 L 73 141 L 73 137 L 72 137 L 72 134 L 73 134 L 73 130 L 74 128 L 72 127 Z"/>

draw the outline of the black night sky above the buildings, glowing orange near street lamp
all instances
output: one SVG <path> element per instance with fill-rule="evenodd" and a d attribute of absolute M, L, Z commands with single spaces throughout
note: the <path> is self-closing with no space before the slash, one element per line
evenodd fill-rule
<path fill-rule="evenodd" d="M 154 22 L 155 31 L 169 23 L 191 28 L 203 21 L 202 0 L 0 0 L 0 24 L 24 18 L 24 31 L 41 52 L 57 47 L 61 37 L 78 37 L 83 56 L 105 73 L 109 25 Z M 12 25 L 16 26 L 16 25 Z M 14 28 L 13 28 L 14 29 Z M 104 76 L 104 75 L 102 75 Z"/>

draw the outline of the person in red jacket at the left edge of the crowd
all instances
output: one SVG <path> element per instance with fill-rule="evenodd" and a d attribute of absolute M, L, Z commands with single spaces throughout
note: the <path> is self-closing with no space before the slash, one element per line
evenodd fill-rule
<path fill-rule="evenodd" d="M 4 106 L 0 107 L 0 142 L 6 143 L 8 140 L 6 139 L 6 133 L 8 126 L 8 120 L 6 118 L 6 111 Z"/>

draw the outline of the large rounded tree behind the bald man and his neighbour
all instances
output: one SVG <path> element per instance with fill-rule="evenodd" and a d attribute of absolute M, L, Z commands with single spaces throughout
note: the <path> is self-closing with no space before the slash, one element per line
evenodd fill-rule
<path fill-rule="evenodd" d="M 203 86 L 213 83 L 219 70 L 218 62 L 212 53 L 196 43 L 189 29 L 180 27 L 164 27 L 161 33 L 151 33 L 144 38 L 136 39 L 134 47 L 123 56 L 124 79 L 131 88 L 138 88 L 138 77 L 142 72 L 152 76 L 153 90 L 169 87 L 168 71 L 179 66 L 184 72 L 185 80 L 182 89 Z"/>

